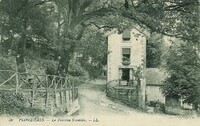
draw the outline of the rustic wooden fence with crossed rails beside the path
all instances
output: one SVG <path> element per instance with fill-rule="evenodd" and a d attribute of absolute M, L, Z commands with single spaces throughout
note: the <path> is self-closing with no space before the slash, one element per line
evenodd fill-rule
<path fill-rule="evenodd" d="M 37 75 L 0 70 L 0 91 L 22 93 L 31 107 L 45 109 L 51 114 L 70 111 L 78 102 L 75 80 L 56 75 Z"/>

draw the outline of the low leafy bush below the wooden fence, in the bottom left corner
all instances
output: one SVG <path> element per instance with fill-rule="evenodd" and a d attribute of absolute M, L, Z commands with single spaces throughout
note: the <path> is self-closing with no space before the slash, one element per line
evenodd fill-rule
<path fill-rule="evenodd" d="M 44 115 L 40 109 L 26 106 L 27 99 L 20 93 L 0 92 L 0 115 Z"/>

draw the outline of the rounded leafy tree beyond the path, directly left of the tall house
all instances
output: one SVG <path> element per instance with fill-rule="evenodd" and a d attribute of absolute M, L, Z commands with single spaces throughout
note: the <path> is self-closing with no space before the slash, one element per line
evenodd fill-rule
<path fill-rule="evenodd" d="M 107 44 L 106 38 L 102 36 L 96 29 L 87 29 L 76 49 L 77 53 L 82 54 L 78 61 L 89 73 L 90 79 L 101 75 L 106 65 Z"/>

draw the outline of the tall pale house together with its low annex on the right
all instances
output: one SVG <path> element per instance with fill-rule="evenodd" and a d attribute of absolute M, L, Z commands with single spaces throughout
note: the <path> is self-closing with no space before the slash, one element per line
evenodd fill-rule
<path fill-rule="evenodd" d="M 158 68 L 146 68 L 146 36 L 136 29 L 107 34 L 107 96 L 144 107 L 150 101 L 165 104 L 161 92 L 166 75 Z"/>

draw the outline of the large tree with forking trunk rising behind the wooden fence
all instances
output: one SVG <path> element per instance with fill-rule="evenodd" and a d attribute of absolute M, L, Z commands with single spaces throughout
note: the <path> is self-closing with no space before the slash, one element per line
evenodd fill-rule
<path fill-rule="evenodd" d="M 57 74 L 65 76 L 68 72 L 70 59 L 81 40 L 84 30 L 98 17 L 106 16 L 112 10 L 104 3 L 95 0 L 63 0 L 53 1 L 57 10 L 57 45 L 60 50 L 60 60 Z"/>

